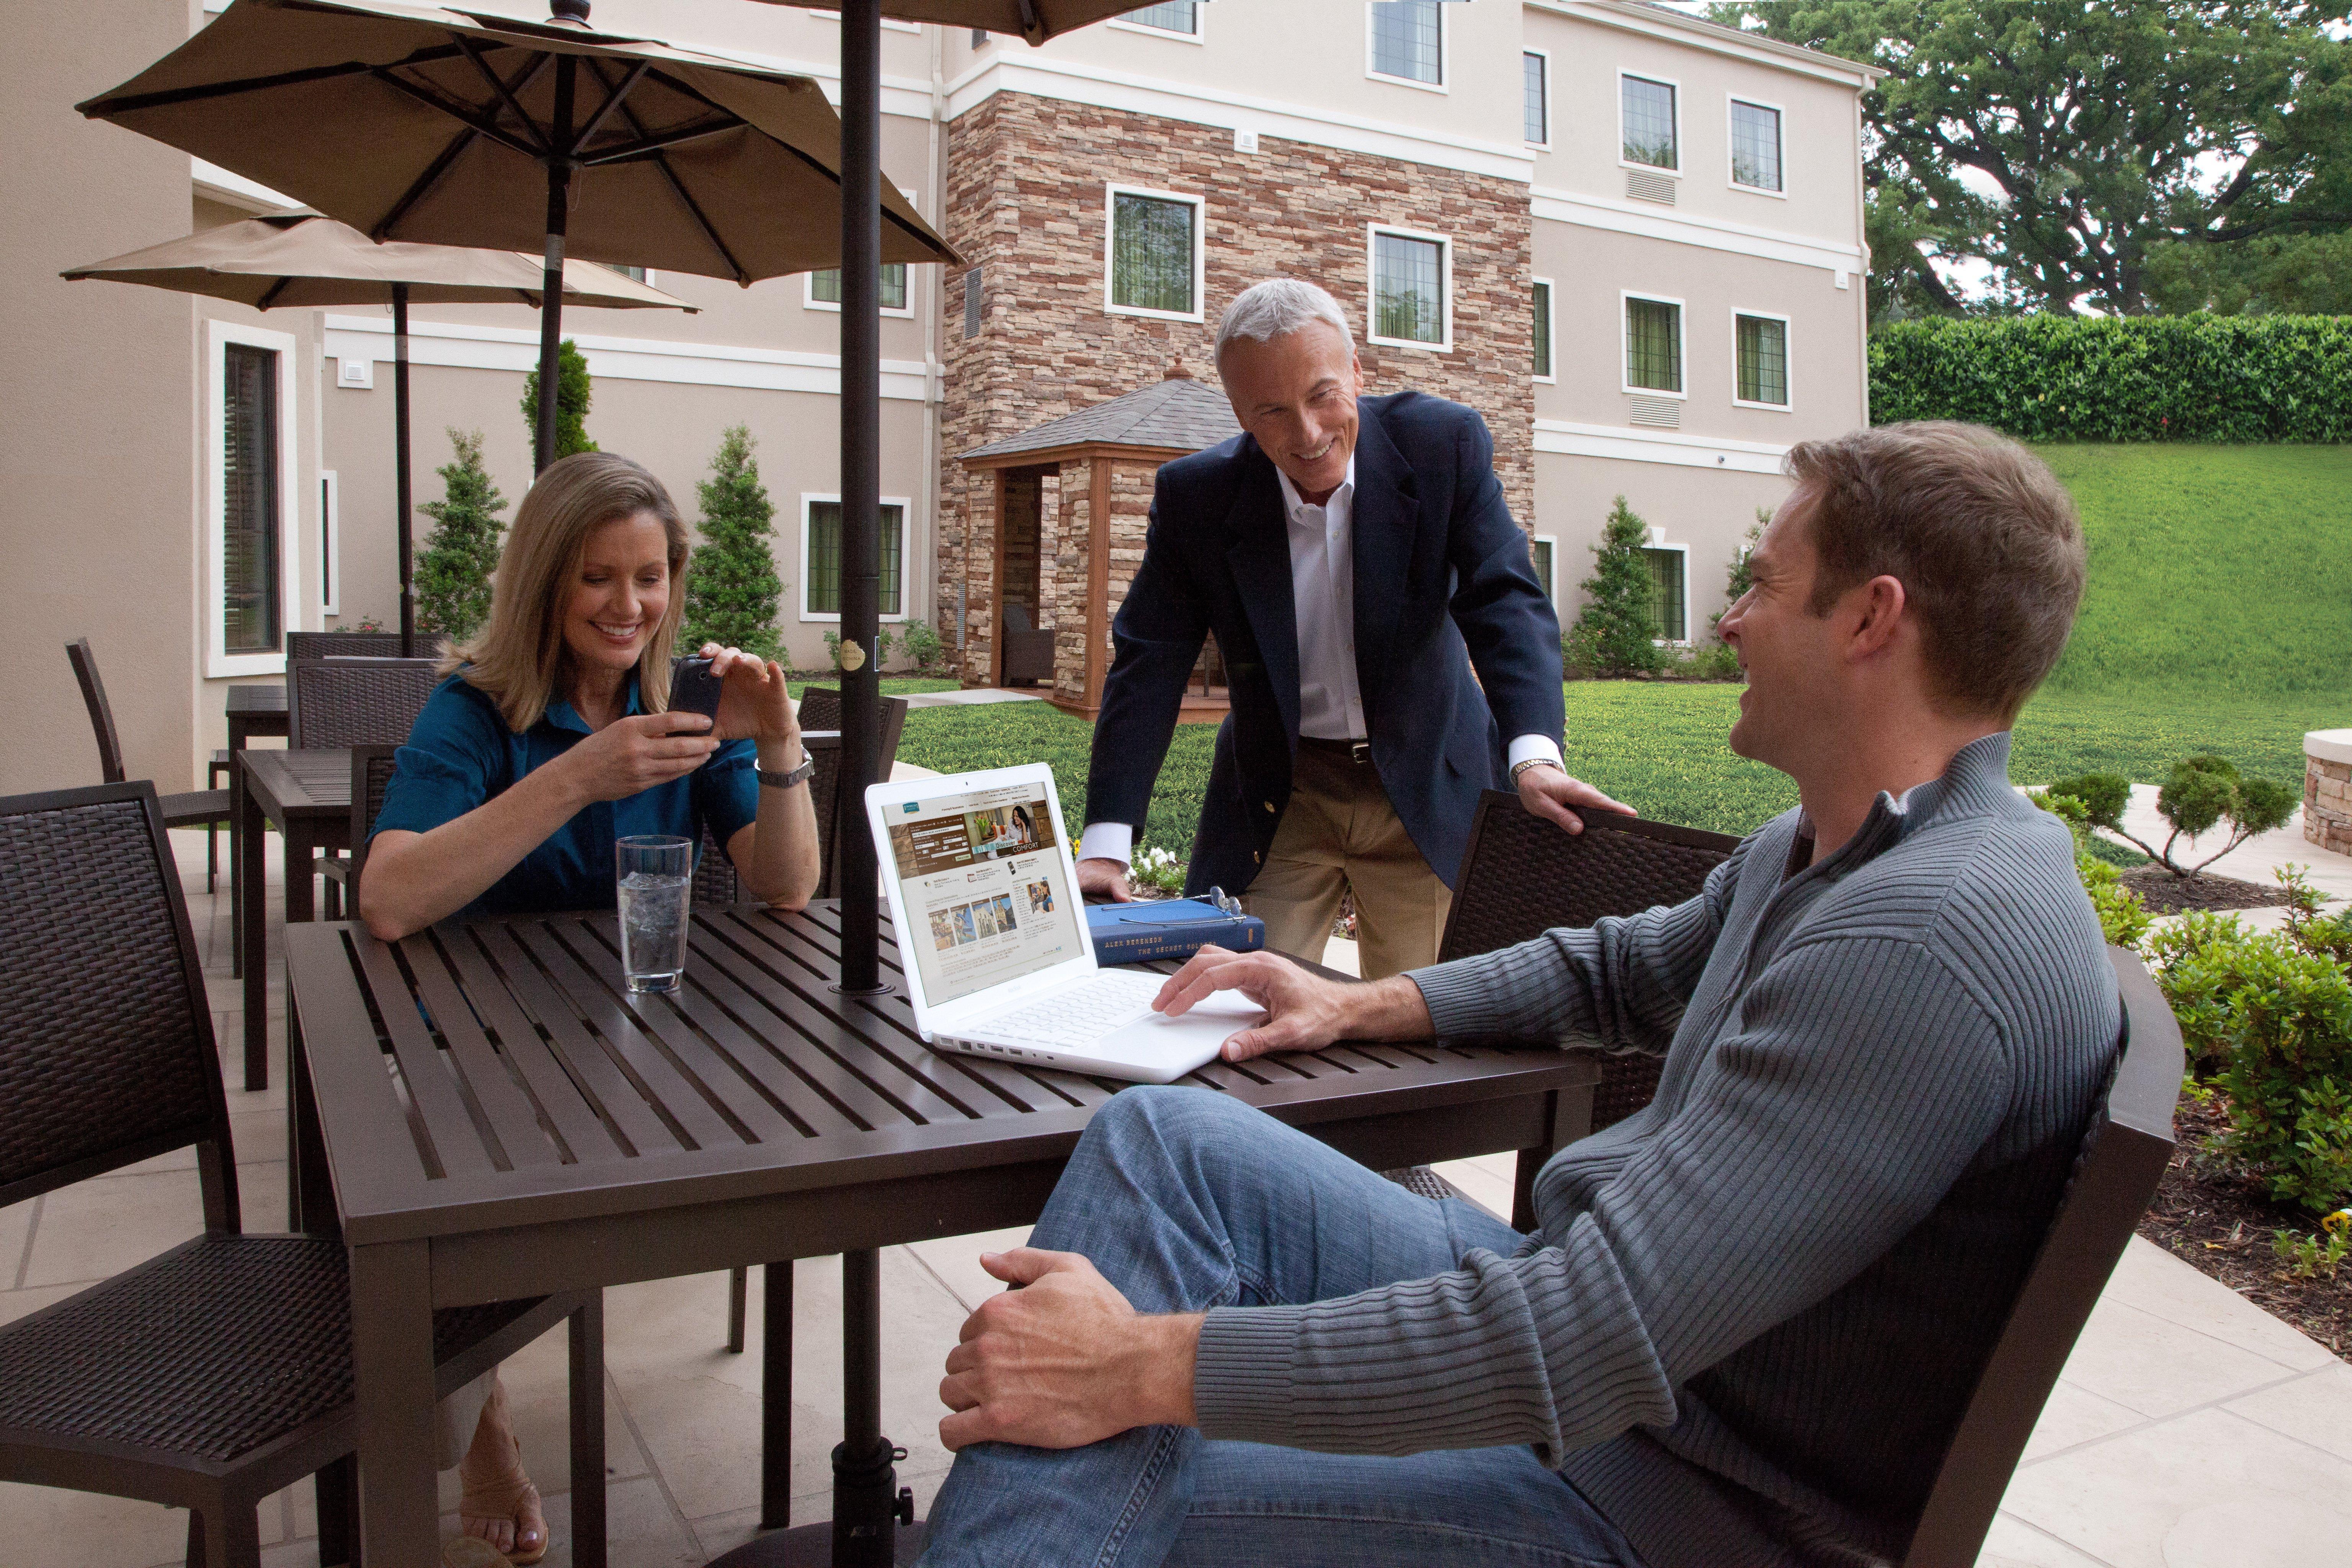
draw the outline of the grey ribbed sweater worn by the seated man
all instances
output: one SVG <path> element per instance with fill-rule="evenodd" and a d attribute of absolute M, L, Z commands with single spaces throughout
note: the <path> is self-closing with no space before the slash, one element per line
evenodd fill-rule
<path fill-rule="evenodd" d="M 1686 905 L 1416 971 L 1439 1037 L 1672 1039 L 1658 1098 L 1543 1166 L 1512 1258 L 1211 1312 L 1202 1432 L 1531 1443 L 1649 1568 L 1900 1556 L 2119 1030 L 2006 764 L 1976 741 L 1797 875 L 1790 811 Z"/>

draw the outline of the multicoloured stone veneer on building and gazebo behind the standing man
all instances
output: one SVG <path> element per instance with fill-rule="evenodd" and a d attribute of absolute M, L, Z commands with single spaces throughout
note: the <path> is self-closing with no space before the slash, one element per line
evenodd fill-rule
<path fill-rule="evenodd" d="M 985 625 L 995 482 L 955 458 L 1148 386 L 1171 360 L 1214 386 L 1216 317 L 1265 277 L 1305 277 L 1331 289 L 1362 339 L 1367 221 L 1454 237 L 1454 350 L 1362 343 L 1364 390 L 1418 388 L 1475 407 L 1494 430 L 1503 494 L 1519 524 L 1534 524 L 1526 186 L 1277 136 L 1258 146 L 1235 153 L 1228 129 L 1004 92 L 948 125 L 946 233 L 985 277 L 974 339 L 962 336 L 964 277 L 948 287 L 941 421 L 938 618 L 953 628 L 955 588 L 969 583 L 969 604 L 981 614 L 967 639 L 967 682 L 988 679 L 995 642 L 995 628 Z M 1105 183 L 1204 197 L 1207 320 L 1103 308 Z M 1127 517 L 1134 487 L 1148 505 L 1150 473 L 1131 484 L 1122 465 L 1115 517 Z M 1082 505 L 1082 491 L 1065 491 L 1061 557 L 1084 550 L 1082 531 L 1075 545 L 1070 538 L 1070 517 Z M 1112 548 L 1141 552 L 1141 524 L 1134 541 Z M 1112 609 L 1131 574 L 1131 562 L 1112 562 Z"/>

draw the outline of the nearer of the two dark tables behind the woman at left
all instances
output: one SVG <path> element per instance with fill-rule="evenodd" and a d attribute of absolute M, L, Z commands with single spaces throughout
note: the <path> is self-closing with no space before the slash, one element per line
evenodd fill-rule
<path fill-rule="evenodd" d="M 245 780 L 238 795 L 238 886 L 252 889 L 235 910 L 245 952 L 245 1086 L 270 1086 L 270 943 L 268 875 L 261 870 L 261 839 L 275 825 L 285 839 L 285 914 L 287 924 L 318 914 L 310 889 L 310 858 L 320 851 L 350 849 L 350 750 L 322 745 L 301 752 L 233 752 L 235 776 Z"/>

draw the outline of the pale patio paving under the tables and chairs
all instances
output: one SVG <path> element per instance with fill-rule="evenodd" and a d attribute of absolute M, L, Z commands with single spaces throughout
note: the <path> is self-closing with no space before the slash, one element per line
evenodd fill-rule
<path fill-rule="evenodd" d="M 2352 860 L 2324 856 L 2288 832 L 2241 856 L 2326 863 L 2331 882 L 2352 870 Z M 230 1058 L 242 1018 L 240 990 L 228 980 L 226 884 L 219 896 L 205 893 L 200 832 L 174 839 L 207 964 L 214 1030 Z M 275 867 L 275 844 L 270 860 Z M 2256 872 L 2239 858 L 2227 870 Z M 2352 889 L 2352 882 L 2336 886 Z M 270 905 L 280 907 L 275 886 Z M 278 980 L 270 1009 L 270 1091 L 242 1093 L 240 1079 L 228 1079 L 252 1229 L 285 1225 Z M 1508 1211 L 1508 1157 L 1458 1161 L 1444 1173 L 1477 1201 Z M 188 1154 L 0 1208 L 0 1321 L 148 1258 L 200 1225 Z M 901 1246 L 882 1258 L 884 1429 L 908 1448 L 898 1474 L 920 1507 L 929 1505 L 950 1462 L 936 1429 L 941 1359 L 964 1314 L 997 1288 L 976 1253 L 1011 1241 L 1018 1232 Z M 760 1291 L 753 1291 L 753 1349 L 731 1356 L 724 1349 L 724 1286 L 722 1274 L 703 1274 L 623 1286 L 604 1298 L 612 1561 L 621 1568 L 691 1568 L 755 1533 Z M 840 1436 L 840 1269 L 828 1258 L 804 1260 L 795 1286 L 793 1519 L 804 1523 L 828 1516 L 828 1450 Z M 555 1530 L 548 1561 L 562 1566 L 572 1561 L 562 1335 L 510 1361 L 506 1380 L 524 1455 L 548 1493 Z M 454 1509 L 454 1476 L 445 1476 L 442 1505 Z M 454 1528 L 454 1512 L 447 1523 Z M 183 1514 L 153 1505 L 0 1486 L 5 1563 L 179 1563 L 183 1528 Z M 270 1568 L 313 1566 L 315 1535 L 308 1486 L 270 1497 L 261 1512 Z M 2034 1432 L 1980 1561 L 2317 1568 L 2352 1561 L 2345 1542 L 2352 1542 L 2352 1366 L 2169 1253 L 2133 1241 Z"/>

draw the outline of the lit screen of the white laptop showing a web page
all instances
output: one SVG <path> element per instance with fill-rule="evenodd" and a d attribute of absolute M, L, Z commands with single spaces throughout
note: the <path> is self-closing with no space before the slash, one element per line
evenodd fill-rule
<path fill-rule="evenodd" d="M 1018 783 L 882 806 L 910 926 L 898 957 L 922 971 L 929 1006 L 1084 952 L 1044 792 Z"/>

